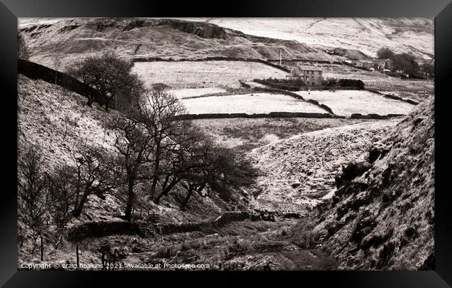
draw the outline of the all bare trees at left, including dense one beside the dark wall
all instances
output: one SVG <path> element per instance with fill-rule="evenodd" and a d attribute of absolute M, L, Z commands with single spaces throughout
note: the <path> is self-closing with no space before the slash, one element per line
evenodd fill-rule
<path fill-rule="evenodd" d="M 179 209 L 186 209 L 195 193 L 228 200 L 232 191 L 255 185 L 258 170 L 250 161 L 181 120 L 185 111 L 178 99 L 164 87 L 145 90 L 130 68 L 111 52 L 70 68 L 116 104 L 122 99 L 122 109 L 115 106 L 118 113 L 110 113 L 104 123 L 106 133 L 113 136 L 113 150 L 80 143 L 72 161 L 53 168 L 45 165 L 39 147 L 18 151 L 18 216 L 31 235 L 33 251 L 43 235 L 58 247 L 64 231 L 58 227 L 79 218 L 95 199 L 92 195 L 120 198 L 122 218 L 131 221 L 143 202 L 159 204 L 172 194 L 182 194 L 183 198 L 174 198 Z"/>

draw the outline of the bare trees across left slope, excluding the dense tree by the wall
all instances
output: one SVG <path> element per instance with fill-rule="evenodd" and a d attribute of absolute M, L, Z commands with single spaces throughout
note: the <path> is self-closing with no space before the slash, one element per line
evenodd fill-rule
<path fill-rule="evenodd" d="M 42 170 L 35 148 L 19 161 L 19 214 L 23 223 L 41 234 L 43 219 L 67 223 L 79 217 L 90 195 L 107 193 L 125 200 L 124 219 L 130 221 L 136 205 L 136 187 L 147 200 L 159 204 L 170 193 L 185 191 L 180 209 L 193 193 L 217 193 L 227 200 L 232 191 L 255 184 L 256 168 L 240 154 L 215 145 L 191 122 L 177 117 L 184 107 L 165 90 L 147 90 L 129 113 L 108 118 L 117 152 L 80 145 L 72 163 L 53 171 Z"/>

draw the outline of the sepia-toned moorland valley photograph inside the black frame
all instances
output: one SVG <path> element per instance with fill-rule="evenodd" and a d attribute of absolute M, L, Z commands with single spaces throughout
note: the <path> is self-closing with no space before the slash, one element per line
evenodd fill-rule
<path fill-rule="evenodd" d="M 17 269 L 435 270 L 435 19 L 17 19 Z"/>

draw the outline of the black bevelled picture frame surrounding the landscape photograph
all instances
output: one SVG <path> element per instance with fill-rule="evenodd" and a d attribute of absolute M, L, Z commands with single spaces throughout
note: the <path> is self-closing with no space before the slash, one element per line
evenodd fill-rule
<path fill-rule="evenodd" d="M 17 271 L 17 17 L 435 17 L 435 271 L 280 271 L 264 273 Z M 197 285 L 235 285 L 249 278 L 275 285 L 323 287 L 451 287 L 451 162 L 447 126 L 452 72 L 452 3 L 449 0 L 320 1 L 106 1 L 0 0 L 0 75 L 3 173 L 0 201 L 0 285 L 4 287 L 104 287 L 157 285 L 156 279 Z M 5 185 L 6 184 L 6 185 Z M 108 273 L 108 275 L 106 275 Z M 237 278 L 241 278 L 240 280 Z M 308 283 L 313 283 L 308 284 Z M 315 284 L 314 284 L 315 283 Z M 161 284 L 163 285 L 163 284 Z"/>

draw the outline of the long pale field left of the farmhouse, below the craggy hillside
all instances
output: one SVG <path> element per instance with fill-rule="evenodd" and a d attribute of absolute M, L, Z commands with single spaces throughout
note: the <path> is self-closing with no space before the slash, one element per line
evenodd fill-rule
<path fill-rule="evenodd" d="M 227 86 L 238 88 L 239 79 L 284 78 L 286 72 L 262 63 L 246 61 L 203 62 L 137 62 L 132 72 L 145 85 L 165 83 L 171 88 L 202 88 Z"/>

